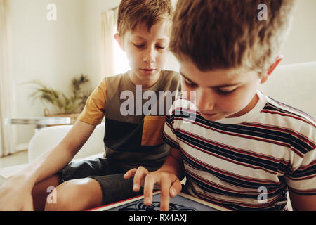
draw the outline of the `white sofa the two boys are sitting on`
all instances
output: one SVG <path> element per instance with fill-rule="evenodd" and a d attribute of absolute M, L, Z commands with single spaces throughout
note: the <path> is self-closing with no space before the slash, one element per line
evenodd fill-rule
<path fill-rule="evenodd" d="M 316 62 L 279 66 L 272 73 L 266 84 L 260 89 L 278 101 L 299 108 L 305 113 L 316 117 Z M 48 148 L 58 144 L 67 134 L 71 126 L 46 127 L 37 132 L 29 143 L 29 162 L 34 161 Z M 104 124 L 100 124 L 93 131 L 90 139 L 74 157 L 75 161 L 102 157 Z M 0 169 L 0 183 L 8 176 L 15 174 L 26 165 L 6 167 Z"/>

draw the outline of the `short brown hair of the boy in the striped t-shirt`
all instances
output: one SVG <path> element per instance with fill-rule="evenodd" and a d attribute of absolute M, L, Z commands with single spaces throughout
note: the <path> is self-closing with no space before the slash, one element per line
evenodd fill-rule
<path fill-rule="evenodd" d="M 258 20 L 259 4 L 268 20 Z M 277 60 L 294 0 L 178 0 L 170 50 L 201 71 L 246 67 L 259 73 Z"/>

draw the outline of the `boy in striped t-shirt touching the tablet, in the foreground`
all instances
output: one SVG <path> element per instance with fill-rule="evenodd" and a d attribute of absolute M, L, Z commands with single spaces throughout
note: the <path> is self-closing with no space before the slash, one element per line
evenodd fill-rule
<path fill-rule="evenodd" d="M 145 204 L 157 183 L 168 210 L 186 176 L 185 191 L 230 210 L 286 210 L 287 191 L 294 210 L 316 210 L 316 122 L 258 91 L 282 60 L 294 1 L 264 1 L 266 21 L 259 4 L 178 1 L 170 49 L 189 94 L 166 117 L 164 165 L 125 174 Z"/>

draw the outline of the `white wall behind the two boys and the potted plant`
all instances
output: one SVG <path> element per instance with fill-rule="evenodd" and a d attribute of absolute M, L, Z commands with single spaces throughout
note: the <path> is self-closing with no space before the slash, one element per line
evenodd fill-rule
<path fill-rule="evenodd" d="M 42 116 L 40 101 L 27 98 L 31 79 L 67 93 L 74 75 L 88 74 L 95 87 L 100 82 L 100 13 L 120 0 L 8 0 L 11 6 L 12 75 L 18 89 L 18 117 Z M 48 22 L 48 4 L 56 4 L 57 21 Z M 176 4 L 176 0 L 173 0 Z M 316 61 L 315 0 L 299 0 L 294 24 L 284 45 L 283 65 Z M 178 70 L 170 56 L 166 69 Z M 303 87 L 302 87 L 303 88 Z M 27 143 L 34 127 L 18 127 L 18 143 Z"/>

